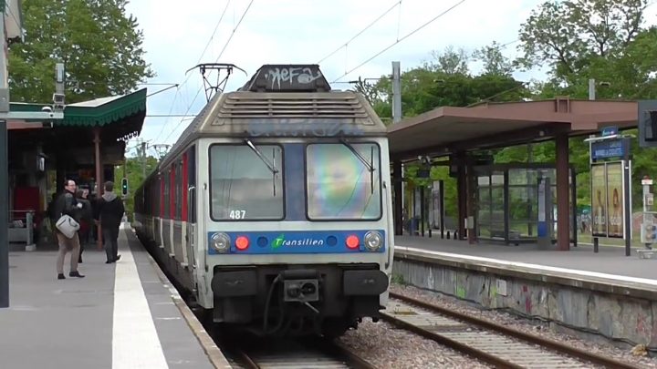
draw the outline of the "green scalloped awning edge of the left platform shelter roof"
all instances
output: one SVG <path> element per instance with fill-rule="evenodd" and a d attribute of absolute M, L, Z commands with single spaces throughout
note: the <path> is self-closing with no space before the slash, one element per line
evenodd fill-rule
<path fill-rule="evenodd" d="M 11 103 L 11 111 L 42 111 L 47 104 Z M 71 104 L 64 108 L 64 118 L 53 121 L 54 127 L 106 127 L 139 113 L 145 115 L 146 88 L 128 95 L 102 97 Z"/>

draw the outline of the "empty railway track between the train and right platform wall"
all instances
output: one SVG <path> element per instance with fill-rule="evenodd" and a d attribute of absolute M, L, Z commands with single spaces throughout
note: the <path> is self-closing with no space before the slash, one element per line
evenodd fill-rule
<path fill-rule="evenodd" d="M 383 319 L 499 368 L 638 368 L 397 293 Z"/>

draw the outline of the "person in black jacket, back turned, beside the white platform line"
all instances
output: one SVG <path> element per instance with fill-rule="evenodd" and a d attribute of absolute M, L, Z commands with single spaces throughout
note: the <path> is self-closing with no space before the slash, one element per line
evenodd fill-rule
<path fill-rule="evenodd" d="M 125 208 L 121 200 L 114 192 L 114 183 L 105 182 L 105 193 L 98 201 L 96 220 L 100 220 L 103 241 L 105 243 L 105 253 L 107 254 L 106 264 L 116 262 L 120 259 L 119 255 L 119 227 Z"/>

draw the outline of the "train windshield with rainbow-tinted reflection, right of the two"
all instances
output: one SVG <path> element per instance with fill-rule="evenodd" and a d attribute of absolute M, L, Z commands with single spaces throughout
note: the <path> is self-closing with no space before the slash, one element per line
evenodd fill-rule
<path fill-rule="evenodd" d="M 381 218 L 377 144 L 311 144 L 306 149 L 306 160 L 309 220 Z"/>

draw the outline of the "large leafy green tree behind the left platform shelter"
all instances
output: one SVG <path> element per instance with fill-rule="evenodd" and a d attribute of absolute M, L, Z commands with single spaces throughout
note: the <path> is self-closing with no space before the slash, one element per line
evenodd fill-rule
<path fill-rule="evenodd" d="M 154 73 L 143 60 L 143 33 L 125 14 L 127 0 L 31 0 L 23 3 L 26 42 L 9 47 L 12 100 L 49 102 L 55 64 L 64 63 L 67 103 L 121 95 Z"/>

